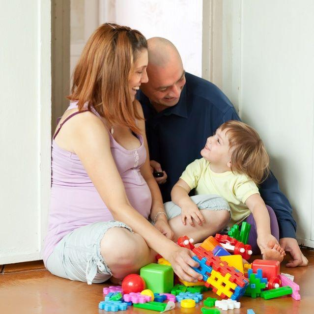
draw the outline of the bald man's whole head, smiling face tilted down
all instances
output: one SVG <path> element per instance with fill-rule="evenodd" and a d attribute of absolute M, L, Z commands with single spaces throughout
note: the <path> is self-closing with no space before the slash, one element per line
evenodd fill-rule
<path fill-rule="evenodd" d="M 176 105 L 185 84 L 180 54 L 168 39 L 152 37 L 147 40 L 148 82 L 141 85 L 143 93 L 160 112 Z"/>

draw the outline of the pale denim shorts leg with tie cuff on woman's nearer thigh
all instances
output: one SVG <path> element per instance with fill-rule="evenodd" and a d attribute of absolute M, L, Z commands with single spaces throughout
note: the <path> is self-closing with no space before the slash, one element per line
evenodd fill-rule
<path fill-rule="evenodd" d="M 54 275 L 88 285 L 103 283 L 112 277 L 106 261 L 100 254 L 100 242 L 107 230 L 113 227 L 132 229 L 120 221 L 97 222 L 77 228 L 54 248 L 46 262 Z"/>

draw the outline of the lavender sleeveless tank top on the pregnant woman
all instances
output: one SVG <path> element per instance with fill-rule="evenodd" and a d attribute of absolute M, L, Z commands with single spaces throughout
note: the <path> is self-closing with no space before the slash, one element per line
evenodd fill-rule
<path fill-rule="evenodd" d="M 77 108 L 77 102 L 70 103 L 67 110 L 73 108 Z M 91 108 L 91 111 L 100 117 L 94 108 Z M 148 219 L 152 199 L 140 172 L 140 167 L 146 159 L 143 137 L 138 135 L 141 142 L 139 148 L 127 150 L 114 140 L 110 132 L 109 135 L 111 152 L 127 197 L 131 205 Z M 51 165 L 49 225 L 43 249 L 45 263 L 57 243 L 72 230 L 95 222 L 113 220 L 111 212 L 96 191 L 78 156 L 60 148 L 55 140 L 52 141 Z"/>

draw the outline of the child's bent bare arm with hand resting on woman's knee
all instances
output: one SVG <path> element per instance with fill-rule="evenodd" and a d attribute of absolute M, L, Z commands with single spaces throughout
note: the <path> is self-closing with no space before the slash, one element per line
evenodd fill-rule
<path fill-rule="evenodd" d="M 179 179 L 171 190 L 171 200 L 181 207 L 181 221 L 184 226 L 186 225 L 186 220 L 193 227 L 195 226 L 193 220 L 201 226 L 205 219 L 198 206 L 190 199 L 190 191 L 189 185 L 184 180 Z"/>

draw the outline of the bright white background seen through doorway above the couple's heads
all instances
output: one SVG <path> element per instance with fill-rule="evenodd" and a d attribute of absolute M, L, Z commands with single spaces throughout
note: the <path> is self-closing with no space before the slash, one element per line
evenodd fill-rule
<path fill-rule="evenodd" d="M 99 0 L 99 22 L 114 22 L 140 30 L 146 38 L 169 39 L 187 72 L 201 76 L 202 1 Z"/>

